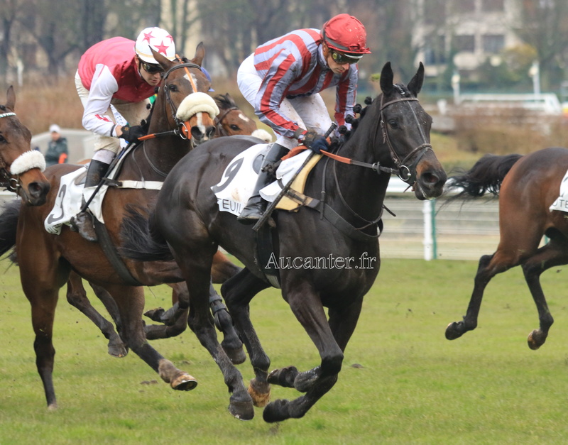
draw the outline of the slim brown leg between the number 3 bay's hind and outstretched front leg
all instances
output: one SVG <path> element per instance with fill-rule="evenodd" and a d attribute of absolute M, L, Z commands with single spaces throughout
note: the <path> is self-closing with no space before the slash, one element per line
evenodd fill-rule
<path fill-rule="evenodd" d="M 84 315 L 87 316 L 102 332 L 105 338 L 109 341 L 108 351 L 111 356 L 124 357 L 126 356 L 126 348 L 120 339 L 119 334 L 114 330 L 111 322 L 105 319 L 97 309 L 92 307 L 91 302 L 87 298 L 82 280 L 79 275 L 71 273 L 67 281 L 67 302 L 73 307 L 76 307 Z"/>

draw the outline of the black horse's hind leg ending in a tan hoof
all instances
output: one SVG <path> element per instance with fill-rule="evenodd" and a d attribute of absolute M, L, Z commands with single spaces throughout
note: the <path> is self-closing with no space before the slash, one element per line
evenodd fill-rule
<path fill-rule="evenodd" d="M 239 336 L 249 352 L 255 374 L 255 378 L 249 385 L 249 394 L 256 407 L 265 407 L 270 401 L 271 386 L 268 383 L 268 367 L 271 366 L 271 361 L 264 352 L 254 330 L 249 315 L 249 303 L 258 292 L 267 287 L 266 282 L 256 278 L 248 269 L 243 269 L 221 287 L 221 293 L 229 307 Z"/>

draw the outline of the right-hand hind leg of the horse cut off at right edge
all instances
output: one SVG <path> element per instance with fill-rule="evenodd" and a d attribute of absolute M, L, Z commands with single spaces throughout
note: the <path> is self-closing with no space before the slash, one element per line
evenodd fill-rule
<path fill-rule="evenodd" d="M 523 273 L 532 300 L 535 301 L 539 320 L 539 329 L 533 330 L 527 339 L 528 346 L 532 350 L 536 350 L 545 344 L 550 326 L 554 323 L 545 294 L 542 292 L 540 274 L 557 265 L 568 264 L 567 249 L 568 243 L 564 238 L 552 238 L 546 246 L 537 251 L 535 256 L 532 256 L 523 264 Z"/>

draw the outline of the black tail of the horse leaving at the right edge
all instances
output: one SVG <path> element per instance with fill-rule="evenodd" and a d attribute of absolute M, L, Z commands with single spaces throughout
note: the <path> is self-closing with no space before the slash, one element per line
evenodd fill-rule
<path fill-rule="evenodd" d="M 498 196 L 501 183 L 513 165 L 523 155 L 484 155 L 471 170 L 448 179 L 449 190 L 460 190 L 451 199 L 481 197 L 486 193 Z"/>

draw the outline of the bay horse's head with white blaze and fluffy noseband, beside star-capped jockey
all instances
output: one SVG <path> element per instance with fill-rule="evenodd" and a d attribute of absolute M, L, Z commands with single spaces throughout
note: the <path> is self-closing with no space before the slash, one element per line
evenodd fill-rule
<path fill-rule="evenodd" d="M 205 55 L 203 43 L 197 45 L 192 60 L 184 57 L 170 61 L 155 51 L 152 53 L 164 70 L 155 107 L 161 107 L 165 112 L 160 116 L 161 119 L 153 113 L 148 132 L 163 131 L 163 128 L 175 129 L 182 138 L 190 139 L 190 148 L 213 138 L 214 118 L 219 114 L 219 109 L 214 100 L 205 94 L 211 87 L 211 82 L 201 70 Z M 201 94 L 189 99 L 196 93 Z"/>

